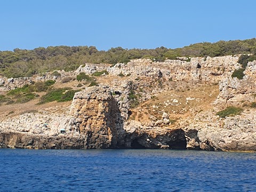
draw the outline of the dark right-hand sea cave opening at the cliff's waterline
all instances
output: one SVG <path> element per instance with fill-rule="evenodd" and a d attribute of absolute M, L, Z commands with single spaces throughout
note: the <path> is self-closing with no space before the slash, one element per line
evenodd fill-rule
<path fill-rule="evenodd" d="M 169 141 L 169 149 L 187 149 L 187 140 L 185 138 L 185 132 L 183 130 L 178 130 L 176 133 L 175 140 Z"/>

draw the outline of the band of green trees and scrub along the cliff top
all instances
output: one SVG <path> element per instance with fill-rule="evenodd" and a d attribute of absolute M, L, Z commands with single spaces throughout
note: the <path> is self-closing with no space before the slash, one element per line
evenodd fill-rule
<path fill-rule="evenodd" d="M 85 63 L 127 62 L 131 59 L 154 58 L 163 61 L 176 57 L 216 57 L 222 55 L 256 53 L 256 38 L 217 43 L 196 43 L 177 49 L 157 47 L 156 49 L 111 48 L 99 51 L 95 46 L 49 46 L 34 50 L 14 49 L 0 51 L 0 74 L 7 77 L 29 77 L 53 70 L 75 70 Z M 56 71 L 57 72 L 57 71 Z M 57 72 L 58 73 L 58 72 Z M 56 75 L 60 75 L 57 74 Z"/>

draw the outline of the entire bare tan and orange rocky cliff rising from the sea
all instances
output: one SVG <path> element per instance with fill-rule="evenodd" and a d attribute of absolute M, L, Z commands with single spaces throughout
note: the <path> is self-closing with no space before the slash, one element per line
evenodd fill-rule
<path fill-rule="evenodd" d="M 237 61 L 238 57 L 227 56 L 81 66 L 69 75 L 106 69 L 113 80 L 108 86 L 102 83 L 77 92 L 67 114 L 7 118 L 0 124 L 0 147 L 256 151 L 256 110 L 245 106 L 255 101 L 256 62 L 249 62 L 244 78 L 237 79 L 231 77 L 241 67 Z M 211 87 L 217 83 L 214 99 Z M 205 84 L 207 93 L 200 88 Z M 193 91 L 196 88 L 199 93 Z M 236 116 L 216 115 L 230 105 L 245 109 Z"/>

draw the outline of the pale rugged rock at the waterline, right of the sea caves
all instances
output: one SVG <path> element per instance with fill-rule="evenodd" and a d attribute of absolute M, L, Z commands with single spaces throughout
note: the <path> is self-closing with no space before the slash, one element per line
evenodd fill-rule
<path fill-rule="evenodd" d="M 207 116 L 207 118 L 206 118 Z M 184 127 L 187 148 L 203 150 L 256 150 L 256 111 L 219 118 L 208 111 L 199 113 Z M 197 123 L 195 123 L 197 122 Z"/>

